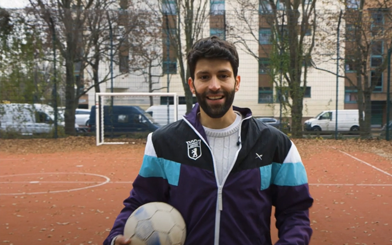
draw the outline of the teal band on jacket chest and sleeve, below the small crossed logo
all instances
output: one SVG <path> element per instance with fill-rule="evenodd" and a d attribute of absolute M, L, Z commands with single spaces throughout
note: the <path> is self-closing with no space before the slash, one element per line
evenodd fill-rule
<path fill-rule="evenodd" d="M 299 186 L 308 183 L 305 167 L 299 163 L 272 163 L 260 167 L 261 190 L 271 184 L 279 186 Z"/>

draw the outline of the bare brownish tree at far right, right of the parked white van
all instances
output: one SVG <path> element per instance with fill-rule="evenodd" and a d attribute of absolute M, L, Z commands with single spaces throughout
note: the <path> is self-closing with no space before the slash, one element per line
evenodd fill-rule
<path fill-rule="evenodd" d="M 371 138 L 371 95 L 382 91 L 382 76 L 388 59 L 387 50 L 392 47 L 392 2 L 387 0 L 357 0 L 339 2 L 345 7 L 341 28 L 344 56 L 340 57 L 339 77 L 352 88 L 359 110 L 359 126 L 362 138 Z M 336 22 L 336 17 L 329 20 Z M 328 36 L 335 36 L 331 32 Z M 326 39 L 324 45 L 336 46 L 336 38 Z M 334 40 L 334 41 L 331 41 Z M 329 59 L 336 54 L 331 53 Z M 316 69 L 326 71 L 316 66 Z M 335 72 L 326 71 L 328 73 Z M 351 95 L 350 95 L 351 97 Z"/>

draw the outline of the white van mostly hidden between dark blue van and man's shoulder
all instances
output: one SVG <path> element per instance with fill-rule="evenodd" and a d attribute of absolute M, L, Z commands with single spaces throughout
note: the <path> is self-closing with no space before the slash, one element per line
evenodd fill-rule
<path fill-rule="evenodd" d="M 181 120 L 187 112 L 187 105 L 178 105 L 177 108 L 177 120 Z M 146 112 L 150 114 L 154 121 L 160 125 L 166 125 L 174 122 L 174 105 L 169 105 L 169 121 L 167 105 L 153 105 L 150 106 Z"/>

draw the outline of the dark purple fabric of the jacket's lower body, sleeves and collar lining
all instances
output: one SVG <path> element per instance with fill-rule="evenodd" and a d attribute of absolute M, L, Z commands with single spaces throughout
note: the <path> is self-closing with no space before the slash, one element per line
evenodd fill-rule
<path fill-rule="evenodd" d="M 250 110 L 235 108 L 250 116 Z M 186 119 L 206 139 L 197 120 L 198 105 Z M 245 139 L 246 140 L 246 139 Z M 244 139 L 243 139 L 244 141 Z M 187 225 L 186 245 L 213 245 L 217 208 L 217 184 L 214 172 L 186 164 L 180 166 L 178 186 L 158 177 L 138 175 L 124 208 L 117 217 L 103 245 L 123 234 L 123 227 L 131 213 L 139 206 L 153 201 L 167 202 L 184 217 Z M 309 208 L 313 199 L 308 184 L 277 186 L 261 190 L 259 168 L 231 173 L 222 193 L 220 244 L 272 245 L 270 237 L 271 205 L 275 206 L 279 241 L 276 245 L 308 245 L 312 229 Z"/>

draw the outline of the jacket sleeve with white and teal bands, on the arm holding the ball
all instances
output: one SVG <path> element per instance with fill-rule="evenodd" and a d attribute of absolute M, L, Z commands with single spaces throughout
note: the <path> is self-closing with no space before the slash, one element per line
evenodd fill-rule
<path fill-rule="evenodd" d="M 152 133 L 148 135 L 142 167 L 133 182 L 133 189 L 123 201 L 124 207 L 103 245 L 111 245 L 116 236 L 123 235 L 125 222 L 138 207 L 148 202 L 168 201 L 169 183 L 161 159 L 156 156 L 151 136 Z"/>

